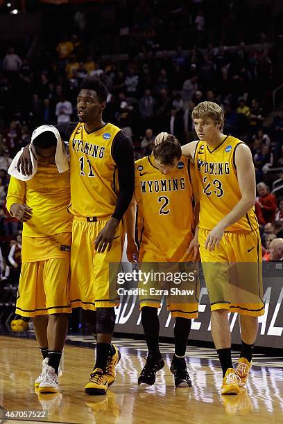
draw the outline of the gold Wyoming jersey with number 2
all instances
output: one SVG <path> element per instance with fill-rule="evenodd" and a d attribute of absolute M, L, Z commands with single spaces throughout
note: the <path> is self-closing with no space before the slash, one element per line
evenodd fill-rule
<path fill-rule="evenodd" d="M 135 198 L 142 245 L 169 256 L 168 249 L 174 255 L 186 240 L 191 241 L 194 210 L 187 157 L 182 156 L 169 175 L 156 168 L 153 156 L 136 161 Z"/>

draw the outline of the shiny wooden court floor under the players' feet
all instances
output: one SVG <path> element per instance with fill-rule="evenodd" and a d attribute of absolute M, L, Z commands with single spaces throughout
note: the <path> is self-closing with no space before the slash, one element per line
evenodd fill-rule
<path fill-rule="evenodd" d="M 122 339 L 116 382 L 106 396 L 88 396 L 84 386 L 94 364 L 94 350 L 83 347 L 81 337 L 68 338 L 69 343 L 76 342 L 77 346 L 65 346 L 60 391 L 40 395 L 33 387 L 41 371 L 41 355 L 35 340 L 0 337 L 0 423 L 283 423 L 280 358 L 274 363 L 255 359 L 257 366 L 250 373 L 248 387 L 241 389 L 239 395 L 221 396 L 221 370 L 212 359 L 214 351 L 198 348 L 203 355 L 196 355 L 194 348 L 188 347 L 193 387 L 175 389 L 169 371 L 172 354 L 168 350 L 165 353 L 163 348 L 166 366 L 157 373 L 154 386 L 141 389 L 137 378 L 145 362 L 144 342 L 123 343 Z M 119 340 L 116 343 L 119 346 Z M 5 411 L 44 411 L 46 418 L 21 421 L 24 418 L 18 416 L 4 421 Z"/>

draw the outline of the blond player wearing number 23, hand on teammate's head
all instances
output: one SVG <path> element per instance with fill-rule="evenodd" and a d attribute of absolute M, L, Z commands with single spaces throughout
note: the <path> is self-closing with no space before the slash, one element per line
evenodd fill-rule
<path fill-rule="evenodd" d="M 261 244 L 255 216 L 255 168 L 248 145 L 224 135 L 221 107 L 196 106 L 192 118 L 199 141 L 182 146 L 194 159 L 200 197 L 198 242 L 212 309 L 212 337 L 223 369 L 222 394 L 246 385 L 262 301 Z M 167 134 L 157 136 L 159 141 Z M 231 359 L 228 312 L 238 312 L 242 348 Z"/>

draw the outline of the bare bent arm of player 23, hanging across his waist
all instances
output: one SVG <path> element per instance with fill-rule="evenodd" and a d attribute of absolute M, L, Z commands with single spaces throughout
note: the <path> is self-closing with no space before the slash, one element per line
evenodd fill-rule
<path fill-rule="evenodd" d="M 235 152 L 235 165 L 237 178 L 241 191 L 241 200 L 234 206 L 232 211 L 210 231 L 205 242 L 205 248 L 209 251 L 219 246 L 226 228 L 239 221 L 255 205 L 255 166 L 252 162 L 252 154 L 248 145 L 239 144 Z"/>

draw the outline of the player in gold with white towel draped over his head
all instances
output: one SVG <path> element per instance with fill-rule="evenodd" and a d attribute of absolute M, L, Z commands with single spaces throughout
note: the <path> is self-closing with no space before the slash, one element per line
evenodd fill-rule
<path fill-rule="evenodd" d="M 35 380 L 40 393 L 56 392 L 60 358 L 68 329 L 69 270 L 72 216 L 70 173 L 55 164 L 57 139 L 39 127 L 33 132 L 37 173 L 28 181 L 11 177 L 7 209 L 24 222 L 22 271 L 16 311 L 33 317 L 35 337 L 42 352 L 42 373 Z"/>

